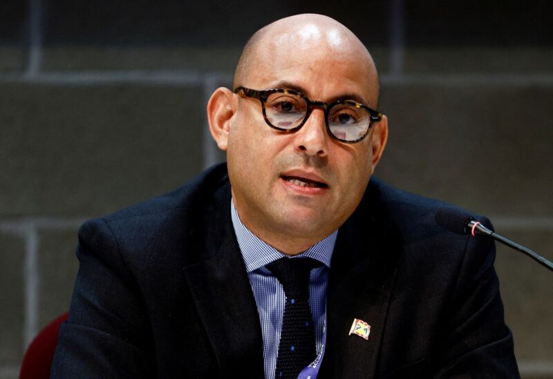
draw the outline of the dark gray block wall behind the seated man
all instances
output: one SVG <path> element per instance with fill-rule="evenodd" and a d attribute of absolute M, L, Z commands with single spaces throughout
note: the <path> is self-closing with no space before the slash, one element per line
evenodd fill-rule
<path fill-rule="evenodd" d="M 377 175 L 489 215 L 553 260 L 553 30 L 547 1 L 8 2 L 0 9 L 0 379 L 66 311 L 77 229 L 224 159 L 205 103 L 245 39 L 316 11 L 367 43 L 390 139 Z M 316 8 L 317 6 L 317 8 Z M 553 378 L 553 276 L 498 248 L 525 378 Z"/>

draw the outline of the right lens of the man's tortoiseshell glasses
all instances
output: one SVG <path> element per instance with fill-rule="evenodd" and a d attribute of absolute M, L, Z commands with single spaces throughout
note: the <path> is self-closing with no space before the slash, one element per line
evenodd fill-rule
<path fill-rule="evenodd" d="M 371 113 L 354 101 L 334 104 L 328 110 L 330 133 L 337 139 L 353 142 L 362 139 L 371 124 Z"/>

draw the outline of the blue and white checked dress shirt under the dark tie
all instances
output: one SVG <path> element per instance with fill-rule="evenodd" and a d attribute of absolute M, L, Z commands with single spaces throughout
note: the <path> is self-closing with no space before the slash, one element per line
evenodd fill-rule
<path fill-rule="evenodd" d="M 261 321 L 261 335 L 263 336 L 263 360 L 265 378 L 274 379 L 281 338 L 282 317 L 285 305 L 285 295 L 282 285 L 272 273 L 265 268 L 266 264 L 287 255 L 265 244 L 242 224 L 234 200 L 231 202 L 232 225 L 236 240 L 244 258 L 247 276 L 254 291 L 254 298 Z M 335 231 L 324 240 L 317 242 L 297 257 L 311 257 L 323 263 L 311 271 L 309 278 L 309 303 L 313 322 L 315 322 L 315 341 L 317 355 L 323 344 L 326 328 L 326 289 L 330 271 L 330 259 L 336 242 L 338 231 Z M 293 258 L 292 258 L 293 259 Z"/>

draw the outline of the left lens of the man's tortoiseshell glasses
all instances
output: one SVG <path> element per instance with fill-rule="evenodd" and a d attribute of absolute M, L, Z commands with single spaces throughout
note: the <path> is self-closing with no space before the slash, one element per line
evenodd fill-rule
<path fill-rule="evenodd" d="M 290 93 L 272 93 L 265 100 L 265 115 L 278 129 L 292 129 L 301 124 L 307 113 L 303 97 Z"/>

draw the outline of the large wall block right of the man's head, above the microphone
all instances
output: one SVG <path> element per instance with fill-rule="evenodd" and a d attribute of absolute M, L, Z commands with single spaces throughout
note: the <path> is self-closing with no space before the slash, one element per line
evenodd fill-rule
<path fill-rule="evenodd" d="M 488 215 L 553 215 L 552 88 L 386 86 L 375 175 Z"/>

